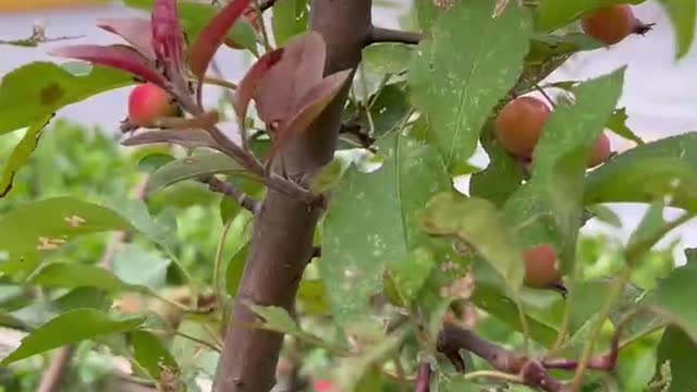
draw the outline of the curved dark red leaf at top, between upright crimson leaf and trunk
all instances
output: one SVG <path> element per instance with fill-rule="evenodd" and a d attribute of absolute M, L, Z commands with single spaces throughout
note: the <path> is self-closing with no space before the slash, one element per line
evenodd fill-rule
<path fill-rule="evenodd" d="M 225 39 L 228 30 L 246 11 L 250 2 L 252 0 L 232 0 L 200 32 L 188 53 L 188 65 L 196 77 L 199 79 L 204 77 L 210 60 Z"/>

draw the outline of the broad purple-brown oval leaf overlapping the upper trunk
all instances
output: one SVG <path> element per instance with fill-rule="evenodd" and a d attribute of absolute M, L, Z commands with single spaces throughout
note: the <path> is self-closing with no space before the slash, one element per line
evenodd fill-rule
<path fill-rule="evenodd" d="M 267 124 L 294 115 L 299 100 L 321 82 L 325 72 L 327 46 L 319 33 L 296 36 L 283 48 L 283 58 L 267 72 L 254 95 L 259 118 Z"/>

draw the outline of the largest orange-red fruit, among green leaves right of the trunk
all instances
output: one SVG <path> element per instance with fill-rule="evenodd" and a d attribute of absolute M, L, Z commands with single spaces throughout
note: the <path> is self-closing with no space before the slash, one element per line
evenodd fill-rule
<path fill-rule="evenodd" d="M 540 138 L 550 110 L 534 97 L 519 97 L 506 103 L 494 124 L 494 132 L 503 148 L 511 154 L 530 158 Z"/>

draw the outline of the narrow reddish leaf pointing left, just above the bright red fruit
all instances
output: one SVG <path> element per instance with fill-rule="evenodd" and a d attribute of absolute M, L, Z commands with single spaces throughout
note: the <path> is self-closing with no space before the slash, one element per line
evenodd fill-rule
<path fill-rule="evenodd" d="M 125 71 L 144 81 L 162 87 L 166 86 L 167 81 L 157 72 L 155 64 L 145 56 L 125 45 L 72 45 L 56 48 L 49 53 Z"/>

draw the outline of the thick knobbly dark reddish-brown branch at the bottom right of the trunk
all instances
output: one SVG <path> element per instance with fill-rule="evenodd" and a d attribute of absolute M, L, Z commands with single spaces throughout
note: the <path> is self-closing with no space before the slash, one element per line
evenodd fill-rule
<path fill-rule="evenodd" d="M 564 385 L 552 378 L 541 362 L 526 358 L 515 352 L 477 336 L 474 332 L 451 324 L 443 326 L 438 335 L 438 351 L 443 353 L 456 368 L 462 363 L 461 350 L 466 350 L 487 360 L 494 369 L 517 375 L 523 383 L 547 392 L 562 392 Z"/>

